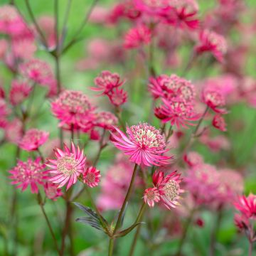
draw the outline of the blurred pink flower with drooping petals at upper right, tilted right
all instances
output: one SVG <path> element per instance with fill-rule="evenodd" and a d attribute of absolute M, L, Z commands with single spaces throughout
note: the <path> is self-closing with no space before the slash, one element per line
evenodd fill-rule
<path fill-rule="evenodd" d="M 196 46 L 196 53 L 211 52 L 220 62 L 223 62 L 223 55 L 227 52 L 227 43 L 223 36 L 207 29 L 200 33 L 200 43 Z"/>

